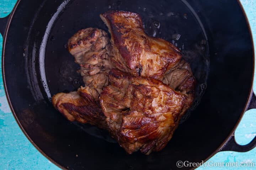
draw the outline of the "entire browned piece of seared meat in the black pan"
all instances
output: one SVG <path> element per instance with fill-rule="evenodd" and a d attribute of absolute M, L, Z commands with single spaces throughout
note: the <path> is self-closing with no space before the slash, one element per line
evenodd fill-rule
<path fill-rule="evenodd" d="M 53 96 L 53 106 L 70 121 L 107 129 L 130 154 L 160 151 L 193 103 L 190 65 L 176 46 L 146 35 L 137 13 L 100 16 L 111 40 L 95 28 L 69 39 L 85 87 Z"/>

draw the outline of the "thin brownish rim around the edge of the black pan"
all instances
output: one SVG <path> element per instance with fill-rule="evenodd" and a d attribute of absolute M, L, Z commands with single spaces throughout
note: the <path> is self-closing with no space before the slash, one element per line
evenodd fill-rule
<path fill-rule="evenodd" d="M 8 35 L 8 31 L 9 31 L 9 27 L 10 27 L 10 24 L 12 22 L 12 17 L 14 16 L 14 13 L 18 7 L 18 5 L 20 4 L 21 0 L 17 0 L 13 10 L 11 11 L 10 13 L 10 16 L 9 16 L 9 19 L 7 21 L 7 24 L 6 24 L 6 28 L 5 28 L 5 33 L 4 33 L 4 36 L 3 36 L 3 44 L 2 44 L 2 79 L 3 79 L 3 84 L 4 84 L 4 90 L 5 90 L 5 95 L 6 95 L 6 99 L 7 99 L 7 102 L 9 104 L 9 107 L 11 109 L 11 112 L 12 112 L 12 115 L 14 116 L 18 126 L 20 127 L 20 129 L 22 130 L 23 134 L 27 137 L 27 139 L 32 143 L 32 145 L 44 156 L 46 157 L 50 162 L 52 162 L 54 165 L 58 166 L 60 169 L 63 169 L 63 170 L 68 170 L 66 169 L 64 166 L 60 165 L 59 163 L 55 162 L 52 158 L 50 158 L 46 153 L 44 153 L 42 151 L 41 148 L 39 148 L 36 143 L 33 142 L 33 140 L 30 138 L 30 136 L 27 134 L 27 132 L 25 131 L 25 129 L 23 128 L 23 126 L 21 125 L 20 121 L 18 120 L 17 118 L 17 115 L 14 111 L 14 108 L 12 106 L 12 103 L 11 103 L 11 100 L 10 100 L 10 97 L 9 97 L 9 93 L 8 93 L 8 89 L 7 89 L 7 86 L 6 86 L 6 80 L 5 80 L 5 69 L 4 69 L 4 58 L 5 58 L 5 46 L 6 46 L 6 39 L 7 39 L 7 35 Z M 255 68 L 255 49 L 254 49 L 254 41 L 253 41 L 253 37 L 252 37 L 252 32 L 251 32 L 251 27 L 250 27 L 250 24 L 249 24 L 249 20 L 247 18 L 247 15 L 245 13 L 245 10 L 244 10 L 244 7 L 242 6 L 240 0 L 237 0 L 240 8 L 241 8 L 241 11 L 243 12 L 244 14 L 244 17 L 245 17 L 245 20 L 246 20 L 246 23 L 247 23 L 247 27 L 249 29 L 249 33 L 250 33 L 250 37 L 251 37 L 251 44 L 252 44 L 252 68 L 254 70 Z M 203 161 L 206 162 L 207 160 L 209 160 L 211 157 L 213 157 L 213 155 L 215 155 L 216 153 L 220 152 L 220 149 L 225 145 L 225 143 L 228 142 L 229 138 L 234 134 L 236 128 L 238 127 L 242 117 L 244 116 L 244 113 L 246 112 L 248 106 L 249 106 L 249 103 L 250 103 L 250 100 L 251 100 L 251 97 L 252 97 L 252 94 L 253 94 L 253 81 L 254 81 L 254 71 L 252 72 L 252 77 L 251 77 L 251 86 L 250 86 L 250 91 L 249 91 L 249 94 L 247 95 L 247 100 L 246 100 L 246 104 L 245 104 L 245 107 L 242 111 L 242 113 L 240 114 L 240 117 L 238 119 L 238 121 L 236 122 L 234 128 L 231 130 L 231 132 L 229 133 L 229 135 L 226 137 L 226 139 L 222 142 L 222 144 L 212 153 L 210 154 L 207 158 L 205 158 Z M 191 170 L 193 169 L 196 169 L 197 167 L 194 166 L 191 168 Z"/>

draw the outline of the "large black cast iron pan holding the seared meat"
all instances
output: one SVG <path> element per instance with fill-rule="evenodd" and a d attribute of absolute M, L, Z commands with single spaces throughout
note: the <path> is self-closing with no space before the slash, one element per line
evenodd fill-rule
<path fill-rule="evenodd" d="M 177 43 L 198 80 L 190 117 L 161 152 L 128 155 L 104 131 L 67 121 L 50 103 L 53 94 L 82 85 L 66 41 L 82 28 L 107 30 L 99 17 L 107 10 L 139 13 L 149 35 Z M 18 0 L 8 18 L 0 19 L 7 100 L 27 138 L 60 168 L 177 169 L 178 160 L 255 147 L 256 138 L 245 146 L 234 140 L 242 115 L 256 106 L 254 49 L 240 2 Z"/>

